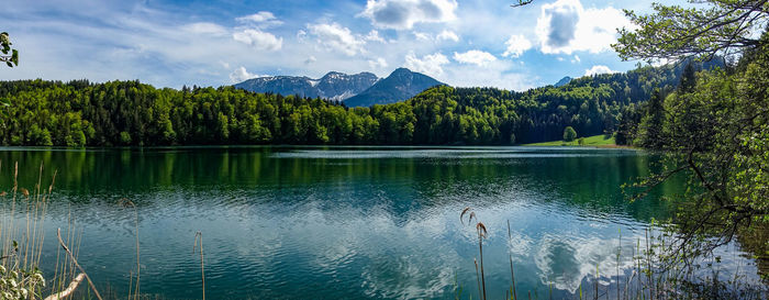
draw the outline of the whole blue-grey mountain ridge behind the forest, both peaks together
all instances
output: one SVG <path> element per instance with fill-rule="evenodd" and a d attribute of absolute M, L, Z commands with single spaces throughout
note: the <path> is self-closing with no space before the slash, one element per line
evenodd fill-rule
<path fill-rule="evenodd" d="M 370 73 L 347 75 L 330 71 L 320 79 L 307 76 L 271 76 L 248 79 L 234 87 L 253 92 L 344 101 L 347 107 L 370 107 L 405 101 L 428 88 L 443 85 L 445 84 L 424 74 L 398 68 L 383 79 Z"/>

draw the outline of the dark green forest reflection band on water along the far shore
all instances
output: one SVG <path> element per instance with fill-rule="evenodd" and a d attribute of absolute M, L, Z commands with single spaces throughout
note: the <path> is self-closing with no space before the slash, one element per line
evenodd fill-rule
<path fill-rule="evenodd" d="M 21 170 L 36 169 L 42 162 L 46 169 L 44 178 L 57 170 L 56 190 L 73 196 L 70 199 L 75 201 L 91 202 L 99 198 L 93 196 L 133 197 L 137 198 L 132 200 L 138 205 L 146 207 L 158 203 L 144 198 L 170 198 L 166 201 L 174 201 L 174 193 L 212 191 L 219 192 L 212 195 L 218 199 L 190 197 L 197 200 L 183 201 L 246 204 L 347 197 L 356 200 L 349 201 L 354 208 L 388 205 L 391 213 L 403 219 L 415 210 L 462 205 L 468 201 L 488 205 L 538 201 L 568 205 L 584 213 L 627 213 L 639 220 L 650 220 L 666 216 L 671 205 L 656 201 L 655 197 L 673 192 L 682 186 L 680 181 L 666 182 L 650 200 L 628 204 L 618 187 L 648 174 L 647 157 L 602 151 L 587 153 L 599 156 L 581 156 L 584 151 L 561 152 L 564 157 L 464 158 L 462 153 L 427 152 L 404 158 L 344 155 L 333 158 L 333 154 L 344 152 L 382 151 L 343 148 L 313 158 L 301 155 L 277 158 L 275 149 L 292 151 L 270 147 L 8 151 L 0 153 L 0 159 L 20 162 Z M 549 152 L 544 151 L 553 154 Z M 10 170 L 3 168 L 2 171 Z M 20 181 L 35 182 L 36 177 L 36 171 L 22 171 Z M 0 184 L 8 185 L 7 180 L 4 176 L 0 177 Z M 172 192 L 163 195 L 160 191 Z"/>

